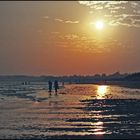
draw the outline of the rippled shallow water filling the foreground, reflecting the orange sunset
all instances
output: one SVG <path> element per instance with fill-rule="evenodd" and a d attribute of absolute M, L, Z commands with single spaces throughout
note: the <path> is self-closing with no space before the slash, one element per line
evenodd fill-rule
<path fill-rule="evenodd" d="M 0 83 L 2 138 L 138 138 L 140 89 L 46 83 Z"/>

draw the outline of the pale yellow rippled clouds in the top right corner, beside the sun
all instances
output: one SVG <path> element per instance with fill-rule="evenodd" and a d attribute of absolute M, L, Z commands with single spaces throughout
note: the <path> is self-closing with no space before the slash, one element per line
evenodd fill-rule
<path fill-rule="evenodd" d="M 79 4 L 89 7 L 90 14 L 100 13 L 111 26 L 140 27 L 139 1 L 79 1 Z"/>

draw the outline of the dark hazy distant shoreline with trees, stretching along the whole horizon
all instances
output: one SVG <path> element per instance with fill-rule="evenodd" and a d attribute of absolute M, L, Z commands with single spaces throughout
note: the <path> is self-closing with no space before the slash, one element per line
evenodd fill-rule
<path fill-rule="evenodd" d="M 0 75 L 0 82 L 47 82 L 58 80 L 65 84 L 97 84 L 97 85 L 116 85 L 127 88 L 140 89 L 140 73 L 124 75 L 115 73 L 112 75 L 93 75 L 93 76 L 26 76 L 26 75 Z"/>

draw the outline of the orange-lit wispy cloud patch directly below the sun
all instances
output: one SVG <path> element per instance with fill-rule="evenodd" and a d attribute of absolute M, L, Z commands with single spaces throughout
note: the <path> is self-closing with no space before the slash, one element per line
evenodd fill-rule
<path fill-rule="evenodd" d="M 98 41 L 93 36 L 86 34 L 55 34 L 54 35 L 55 45 L 60 48 L 68 49 L 69 51 L 83 51 L 88 53 L 101 53 L 101 52 L 110 52 L 113 49 L 121 47 L 123 49 L 124 44 L 121 44 L 120 41 L 108 38 L 105 40 Z M 108 46 L 108 47 L 107 47 Z"/>

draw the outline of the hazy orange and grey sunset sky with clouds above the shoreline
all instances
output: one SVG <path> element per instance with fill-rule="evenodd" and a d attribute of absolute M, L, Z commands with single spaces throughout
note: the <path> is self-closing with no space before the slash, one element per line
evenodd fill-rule
<path fill-rule="evenodd" d="M 0 2 L 0 74 L 115 71 L 140 71 L 139 1 Z"/>

